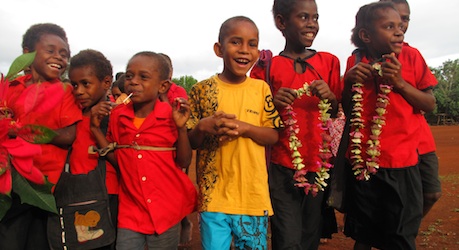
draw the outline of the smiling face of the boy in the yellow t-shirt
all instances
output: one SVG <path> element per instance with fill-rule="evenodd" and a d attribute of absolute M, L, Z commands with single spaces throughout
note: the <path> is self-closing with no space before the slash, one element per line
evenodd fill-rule
<path fill-rule="evenodd" d="M 242 82 L 259 56 L 257 27 L 249 21 L 234 21 L 223 42 L 216 43 L 214 50 L 223 58 L 221 76 L 229 82 Z"/>

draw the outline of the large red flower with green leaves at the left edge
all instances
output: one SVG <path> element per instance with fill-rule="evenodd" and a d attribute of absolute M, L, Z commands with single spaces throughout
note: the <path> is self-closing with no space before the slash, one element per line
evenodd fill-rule
<path fill-rule="evenodd" d="M 41 154 L 37 144 L 49 143 L 57 134 L 55 131 L 37 124 L 21 124 L 15 120 L 12 110 L 7 106 L 9 80 L 29 67 L 35 59 L 35 52 L 22 54 L 11 65 L 6 77 L 0 80 L 0 220 L 12 204 L 11 192 L 15 192 L 21 203 L 57 213 L 52 184 L 46 176 L 33 165 L 33 158 Z M 61 85 L 42 88 L 34 84 L 22 93 L 27 95 L 24 115 L 30 112 L 46 114 L 55 107 L 55 100 L 63 97 Z M 46 98 L 53 96 L 53 98 Z M 54 100 L 54 101 L 47 101 Z"/>

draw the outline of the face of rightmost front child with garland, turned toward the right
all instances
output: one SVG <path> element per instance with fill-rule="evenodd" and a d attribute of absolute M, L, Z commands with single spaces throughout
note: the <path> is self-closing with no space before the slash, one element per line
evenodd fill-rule
<path fill-rule="evenodd" d="M 379 18 L 373 22 L 366 40 L 370 53 L 376 58 L 392 52 L 399 54 L 404 38 L 400 15 L 392 8 L 379 9 L 375 14 Z"/>

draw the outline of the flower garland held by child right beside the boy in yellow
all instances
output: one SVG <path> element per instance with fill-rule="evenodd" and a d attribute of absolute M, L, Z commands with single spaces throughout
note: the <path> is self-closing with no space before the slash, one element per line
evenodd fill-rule
<path fill-rule="evenodd" d="M 297 98 L 301 98 L 303 95 L 311 96 L 309 84 L 305 82 L 303 87 L 296 90 L 296 94 Z M 316 196 L 319 190 L 324 191 L 324 188 L 327 186 L 326 180 L 330 178 L 328 170 L 333 166 L 329 163 L 329 159 L 332 156 L 330 149 L 330 142 L 332 138 L 329 134 L 331 120 L 328 110 L 331 109 L 331 104 L 327 99 L 320 100 L 318 108 L 320 120 L 320 124 L 318 126 L 322 129 L 322 142 L 319 144 L 320 161 L 317 162 L 319 171 L 317 172 L 317 177 L 315 178 L 314 184 L 310 184 L 306 178 L 308 170 L 305 168 L 301 153 L 298 151 L 298 149 L 303 145 L 297 136 L 300 128 L 297 125 L 297 120 L 295 119 L 296 113 L 293 111 L 293 107 L 291 105 L 288 105 L 285 108 L 285 112 L 288 117 L 288 119 L 285 121 L 285 124 L 288 126 L 287 133 L 289 135 L 289 147 L 292 152 L 292 163 L 296 169 L 295 175 L 293 176 L 293 179 L 297 182 L 295 186 L 304 188 L 304 192 L 306 194 L 312 192 L 313 196 Z"/>

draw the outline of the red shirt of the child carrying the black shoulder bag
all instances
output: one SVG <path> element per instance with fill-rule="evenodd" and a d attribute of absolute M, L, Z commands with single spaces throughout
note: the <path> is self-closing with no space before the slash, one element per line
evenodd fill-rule
<path fill-rule="evenodd" d="M 70 154 L 70 172 L 73 174 L 87 174 L 96 168 L 98 164 L 98 155 L 89 154 L 89 146 L 97 146 L 96 140 L 90 131 L 89 116 L 83 116 L 83 120 L 77 123 L 77 136 L 72 145 Z M 109 194 L 118 194 L 118 176 L 115 168 L 110 162 L 106 161 L 106 180 L 107 192 Z"/>

